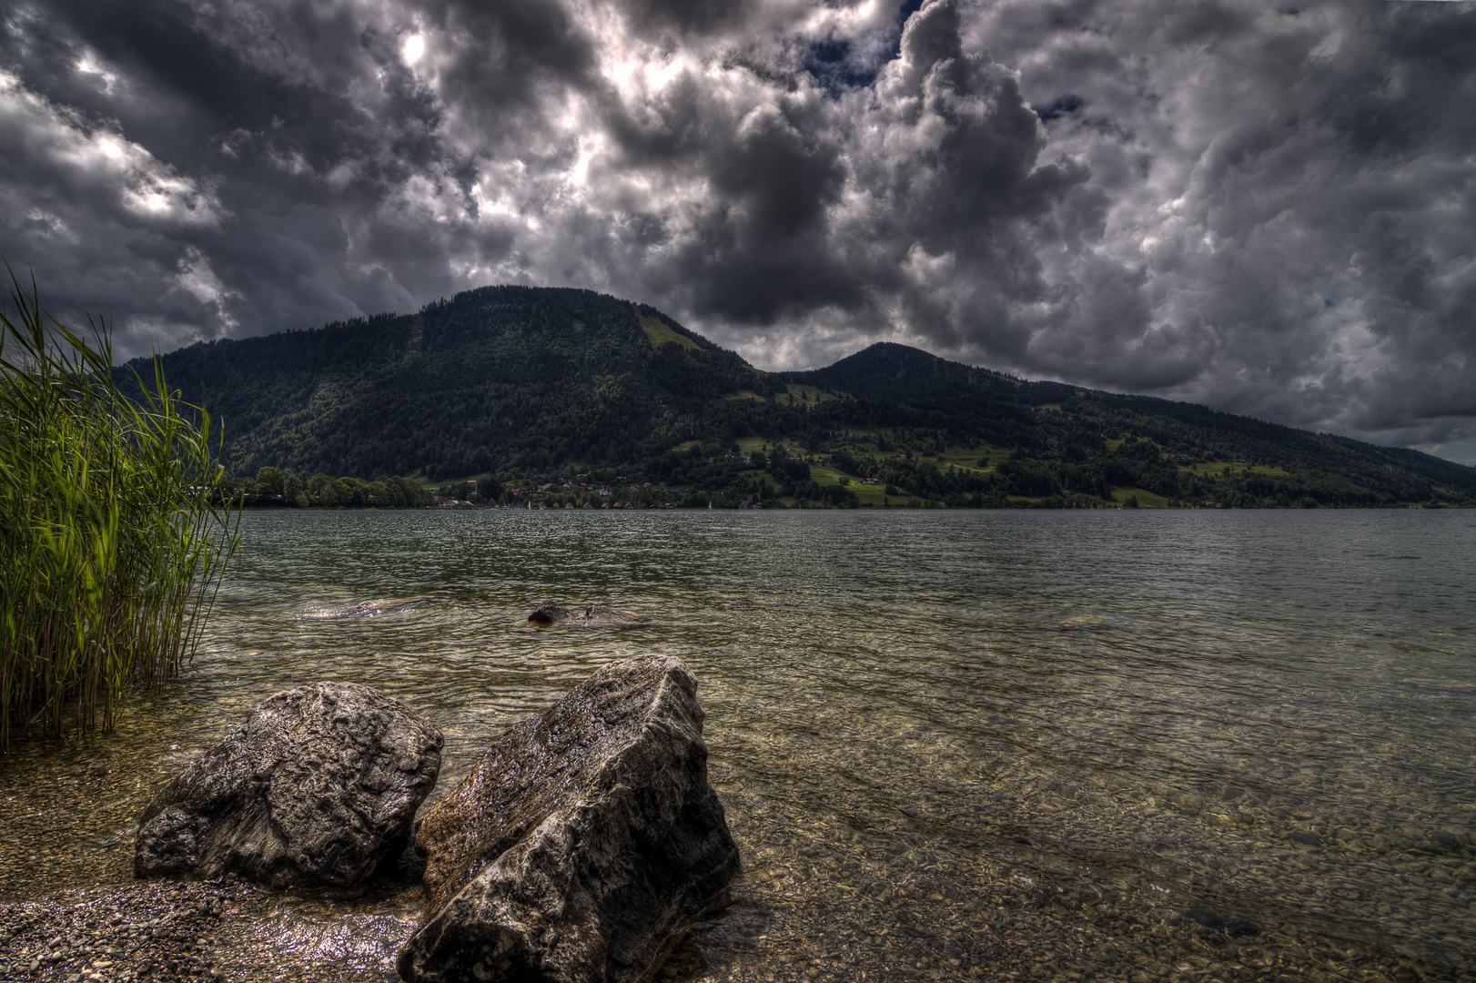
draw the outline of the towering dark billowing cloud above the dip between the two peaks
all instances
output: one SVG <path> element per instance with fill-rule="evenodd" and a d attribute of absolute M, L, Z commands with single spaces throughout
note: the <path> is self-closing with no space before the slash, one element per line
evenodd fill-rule
<path fill-rule="evenodd" d="M 899 319 L 934 341 L 958 341 L 968 320 L 1020 348 L 998 313 L 1042 285 L 1013 223 L 1049 211 L 1085 170 L 1038 167 L 1044 128 L 1008 69 L 962 49 L 958 9 L 909 18 L 866 87 L 821 87 L 800 59 L 770 55 L 769 75 L 737 69 L 646 103 L 623 171 L 639 159 L 701 193 L 682 208 L 657 199 L 645 218 L 660 235 L 635 277 L 703 320 L 754 325 L 770 363 L 853 350 L 858 332 L 890 335 Z M 788 84 L 766 84 L 785 68 Z"/>

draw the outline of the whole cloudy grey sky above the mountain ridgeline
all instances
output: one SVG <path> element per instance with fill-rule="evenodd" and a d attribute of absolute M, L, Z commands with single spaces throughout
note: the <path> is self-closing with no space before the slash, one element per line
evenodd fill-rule
<path fill-rule="evenodd" d="M 123 354 L 486 283 L 1476 462 L 1476 3 L 12 0 L 0 255 Z"/>

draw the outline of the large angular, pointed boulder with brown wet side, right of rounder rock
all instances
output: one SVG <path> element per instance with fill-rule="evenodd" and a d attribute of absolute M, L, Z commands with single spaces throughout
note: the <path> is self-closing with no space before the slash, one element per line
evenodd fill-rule
<path fill-rule="evenodd" d="M 738 847 L 707 784 L 697 680 L 613 663 L 511 728 L 421 822 L 418 983 L 636 980 L 725 891 Z"/>

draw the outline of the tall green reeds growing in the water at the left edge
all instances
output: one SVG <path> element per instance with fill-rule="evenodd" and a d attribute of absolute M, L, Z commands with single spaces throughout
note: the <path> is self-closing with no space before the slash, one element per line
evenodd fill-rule
<path fill-rule="evenodd" d="M 9 267 L 7 267 L 9 269 Z M 83 338 L 10 275 L 0 311 L 0 748 L 32 725 L 112 729 L 127 689 L 193 658 L 230 512 L 210 416 L 154 379 L 120 387 L 106 331 Z M 90 322 L 92 323 L 92 322 Z M 127 393 L 124 391 L 127 390 Z"/>

